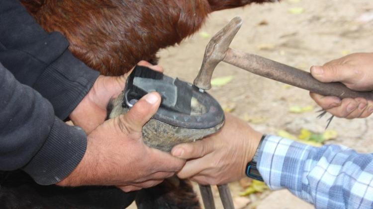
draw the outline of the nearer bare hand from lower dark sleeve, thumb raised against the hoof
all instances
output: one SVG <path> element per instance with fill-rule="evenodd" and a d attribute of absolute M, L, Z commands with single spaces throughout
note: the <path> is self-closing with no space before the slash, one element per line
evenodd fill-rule
<path fill-rule="evenodd" d="M 142 127 L 160 103 L 158 93 L 147 94 L 126 114 L 94 129 L 83 159 L 57 185 L 116 185 L 129 192 L 155 186 L 174 175 L 185 160 L 149 148 L 142 139 Z"/>

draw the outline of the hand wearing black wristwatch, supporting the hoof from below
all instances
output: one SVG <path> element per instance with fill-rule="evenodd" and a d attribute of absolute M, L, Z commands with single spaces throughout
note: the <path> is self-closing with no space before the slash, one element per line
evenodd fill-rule
<path fill-rule="evenodd" d="M 254 157 L 262 134 L 230 114 L 225 118 L 218 133 L 173 148 L 173 156 L 190 159 L 178 173 L 180 178 L 217 185 L 245 176 L 246 164 Z"/>

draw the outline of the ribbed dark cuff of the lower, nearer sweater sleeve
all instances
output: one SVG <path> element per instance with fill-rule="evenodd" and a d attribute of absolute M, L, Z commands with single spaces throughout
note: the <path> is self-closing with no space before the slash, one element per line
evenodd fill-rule
<path fill-rule="evenodd" d="M 55 184 L 66 178 L 77 167 L 86 149 L 85 132 L 79 127 L 69 126 L 55 118 L 47 140 L 22 169 L 38 184 Z"/>

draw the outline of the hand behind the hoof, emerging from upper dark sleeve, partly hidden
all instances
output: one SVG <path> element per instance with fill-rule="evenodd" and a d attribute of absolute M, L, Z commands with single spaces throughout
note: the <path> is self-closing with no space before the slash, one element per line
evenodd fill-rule
<path fill-rule="evenodd" d="M 163 72 L 163 68 L 158 65 L 152 65 L 146 61 L 140 61 L 138 65 L 147 66 L 155 71 Z M 128 75 L 122 76 L 98 76 L 93 87 L 86 97 L 71 112 L 70 119 L 77 126 L 89 134 L 98 125 L 102 124 L 106 118 L 106 107 L 110 99 L 116 98 L 124 88 Z"/>

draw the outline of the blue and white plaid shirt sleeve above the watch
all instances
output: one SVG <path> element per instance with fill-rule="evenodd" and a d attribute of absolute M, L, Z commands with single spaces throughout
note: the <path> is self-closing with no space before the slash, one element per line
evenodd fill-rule
<path fill-rule="evenodd" d="M 320 209 L 373 208 L 372 154 L 271 135 L 257 152 L 258 170 L 273 190 L 287 188 Z"/>

